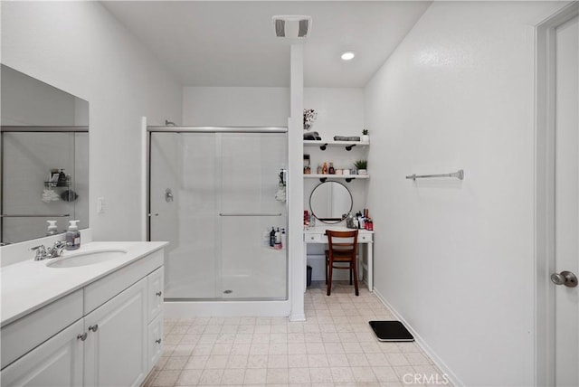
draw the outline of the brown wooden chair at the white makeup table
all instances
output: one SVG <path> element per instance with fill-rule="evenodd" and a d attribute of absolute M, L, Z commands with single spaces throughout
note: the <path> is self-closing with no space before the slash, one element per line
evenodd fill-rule
<path fill-rule="evenodd" d="M 356 296 L 358 296 L 358 275 L 356 265 L 358 231 L 327 230 L 326 235 L 328 245 L 326 250 L 327 296 L 329 296 L 332 288 L 333 269 L 350 270 L 350 285 L 352 285 L 352 276 L 354 276 L 354 288 L 356 289 Z M 347 264 L 347 266 L 345 264 Z"/>

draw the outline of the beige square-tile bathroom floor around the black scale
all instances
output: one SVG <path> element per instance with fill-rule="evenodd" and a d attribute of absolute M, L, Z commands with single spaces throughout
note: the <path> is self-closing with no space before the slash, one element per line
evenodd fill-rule
<path fill-rule="evenodd" d="M 196 317 L 165 322 L 165 352 L 145 386 L 449 385 L 414 343 L 381 343 L 369 320 L 394 319 L 367 288 L 314 283 L 306 322 Z M 404 376 L 405 375 L 405 376 Z"/>

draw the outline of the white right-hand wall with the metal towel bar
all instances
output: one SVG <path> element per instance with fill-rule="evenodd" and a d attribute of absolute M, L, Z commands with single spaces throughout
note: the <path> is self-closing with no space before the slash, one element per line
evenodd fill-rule
<path fill-rule="evenodd" d="M 376 291 L 466 385 L 534 381 L 533 25 L 560 5 L 434 2 L 365 90 Z"/>

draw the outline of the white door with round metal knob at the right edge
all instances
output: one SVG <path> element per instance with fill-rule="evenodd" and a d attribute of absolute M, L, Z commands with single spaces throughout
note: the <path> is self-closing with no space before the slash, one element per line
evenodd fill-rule
<path fill-rule="evenodd" d="M 555 31 L 555 274 L 579 275 L 578 25 L 574 17 Z M 553 286 L 555 385 L 579 386 L 579 287 Z"/>

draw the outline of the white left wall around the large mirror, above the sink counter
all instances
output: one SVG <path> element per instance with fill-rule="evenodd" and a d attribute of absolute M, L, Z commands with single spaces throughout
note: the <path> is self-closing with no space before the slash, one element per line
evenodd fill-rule
<path fill-rule="evenodd" d="M 97 2 L 2 2 L 2 62 L 89 101 L 94 239 L 138 240 L 140 118 L 180 121 L 176 79 Z"/>

